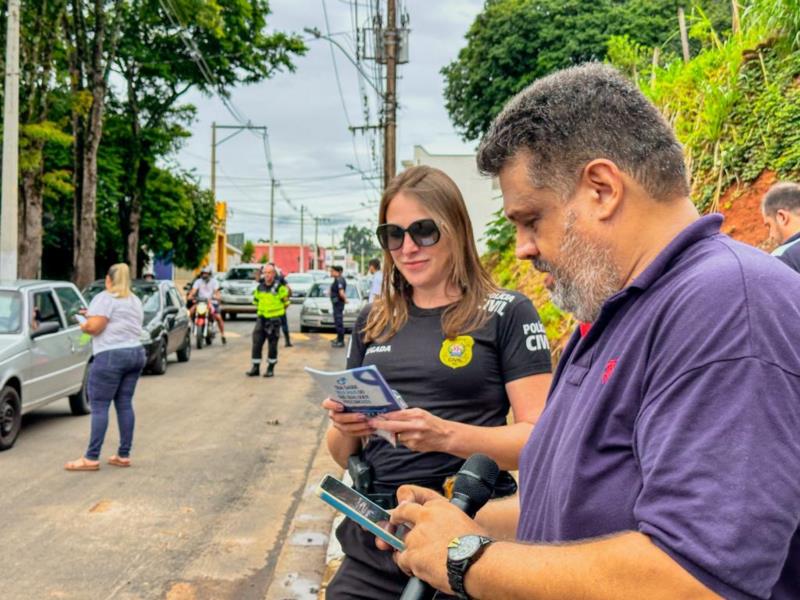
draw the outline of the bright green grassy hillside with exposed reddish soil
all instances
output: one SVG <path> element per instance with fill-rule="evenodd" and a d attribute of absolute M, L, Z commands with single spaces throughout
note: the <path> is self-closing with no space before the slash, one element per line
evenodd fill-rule
<path fill-rule="evenodd" d="M 723 212 L 727 233 L 760 245 L 764 191 L 800 179 L 800 1 L 753 2 L 725 38 L 699 13 L 692 36 L 704 49 L 687 63 L 654 64 L 652 48 L 626 37 L 611 38 L 609 57 L 675 127 L 698 209 Z M 534 300 L 557 358 L 574 319 L 549 301 L 543 277 L 514 259 L 508 224 L 496 223 L 488 237 L 492 273 Z"/>

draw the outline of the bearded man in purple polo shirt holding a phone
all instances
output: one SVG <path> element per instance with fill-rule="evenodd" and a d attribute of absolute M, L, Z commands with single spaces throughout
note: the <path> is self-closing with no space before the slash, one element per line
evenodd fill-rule
<path fill-rule="evenodd" d="M 401 488 L 400 566 L 461 598 L 800 598 L 800 278 L 698 215 L 670 126 L 608 66 L 534 82 L 478 163 L 584 325 L 519 497 L 473 521 Z"/>

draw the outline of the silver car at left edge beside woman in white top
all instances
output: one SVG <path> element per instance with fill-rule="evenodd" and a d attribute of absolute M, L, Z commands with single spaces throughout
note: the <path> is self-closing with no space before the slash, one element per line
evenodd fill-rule
<path fill-rule="evenodd" d="M 71 283 L 0 285 L 0 450 L 14 445 L 22 415 L 45 404 L 68 397 L 73 414 L 89 412 L 91 346 L 75 318 L 85 307 Z"/>

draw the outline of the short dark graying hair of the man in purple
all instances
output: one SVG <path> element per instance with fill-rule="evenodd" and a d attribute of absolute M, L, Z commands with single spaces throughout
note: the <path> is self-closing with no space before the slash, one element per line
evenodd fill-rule
<path fill-rule="evenodd" d="M 512 98 L 478 148 L 478 168 L 496 176 L 529 153 L 532 183 L 566 199 L 581 170 L 613 161 L 656 200 L 689 195 L 683 148 L 653 104 L 616 69 L 587 63 L 539 79 Z"/>

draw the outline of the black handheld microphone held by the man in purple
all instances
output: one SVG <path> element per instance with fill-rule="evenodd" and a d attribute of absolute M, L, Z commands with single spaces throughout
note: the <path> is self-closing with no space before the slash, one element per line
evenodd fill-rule
<path fill-rule="evenodd" d="M 485 454 L 473 454 L 462 465 L 453 483 L 450 504 L 464 511 L 472 519 L 494 493 L 500 467 Z M 436 593 L 431 586 L 412 577 L 408 580 L 400 600 L 429 600 Z"/>

